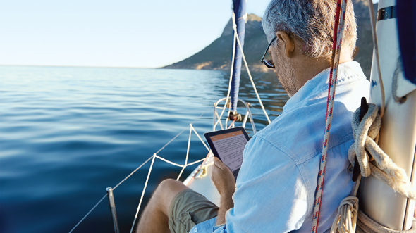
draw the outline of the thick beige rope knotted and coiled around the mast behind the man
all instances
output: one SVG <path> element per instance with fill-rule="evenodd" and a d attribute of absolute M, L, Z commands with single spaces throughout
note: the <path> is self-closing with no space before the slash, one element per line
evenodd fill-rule
<path fill-rule="evenodd" d="M 350 149 L 348 150 L 348 159 L 350 160 L 351 164 L 355 164 L 355 158 L 357 158 L 358 164 L 360 165 L 361 174 L 359 175 L 357 182 L 355 183 L 353 195 L 347 196 L 345 199 L 343 199 L 343 201 L 341 201 L 341 204 L 338 207 L 338 217 L 333 222 L 333 225 L 331 227 L 331 233 L 335 233 L 337 229 L 338 232 L 341 233 L 355 232 L 357 222 L 359 223 L 361 228 L 365 228 L 365 232 L 396 232 L 379 225 L 377 222 L 374 222 L 374 220 L 368 218 L 367 215 L 365 215 L 364 213 L 362 213 L 361 210 L 358 209 L 358 199 L 356 196 L 358 187 L 360 185 L 361 176 L 367 177 L 370 174 L 374 175 L 379 180 L 392 187 L 394 191 L 398 191 L 400 194 L 403 194 L 408 198 L 412 197 L 412 199 L 415 199 L 415 191 L 412 190 L 412 186 L 409 182 L 409 179 L 405 171 L 402 168 L 399 168 L 395 163 L 393 163 L 389 156 L 387 156 L 377 145 L 377 142 L 379 141 L 379 129 L 381 126 L 381 118 L 384 115 L 386 100 L 384 94 L 383 78 L 381 77 L 379 46 L 377 43 L 376 23 L 372 0 L 368 0 L 368 8 L 372 27 L 374 56 L 376 59 L 375 65 L 377 66 L 377 73 L 379 75 L 381 110 L 378 114 L 377 106 L 375 106 L 374 104 L 369 104 L 369 111 L 367 111 L 361 122 L 361 108 L 358 108 L 353 115 L 352 125 L 355 143 L 351 145 Z M 396 96 L 394 95 L 394 88 L 393 97 L 395 97 L 395 101 L 398 102 L 396 100 Z M 372 163 L 369 163 L 370 159 L 365 151 L 365 148 L 367 148 L 369 153 L 371 153 L 372 155 L 374 154 L 372 159 L 376 158 L 376 161 L 378 160 L 381 163 L 381 169 L 377 168 Z M 398 184 L 396 184 L 395 182 L 398 182 Z M 415 222 L 413 222 L 413 226 L 415 226 Z M 362 229 L 360 227 L 357 228 L 357 232 L 362 232 Z M 412 229 L 413 228 L 415 227 L 412 227 Z M 416 230 L 413 229 L 412 232 L 416 232 Z"/>

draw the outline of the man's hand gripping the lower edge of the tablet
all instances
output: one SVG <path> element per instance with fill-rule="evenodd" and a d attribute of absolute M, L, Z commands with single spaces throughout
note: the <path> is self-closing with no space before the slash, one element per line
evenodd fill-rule
<path fill-rule="evenodd" d="M 235 191 L 233 172 L 216 157 L 214 157 L 214 165 L 212 166 L 211 180 L 221 196 L 233 196 Z"/>

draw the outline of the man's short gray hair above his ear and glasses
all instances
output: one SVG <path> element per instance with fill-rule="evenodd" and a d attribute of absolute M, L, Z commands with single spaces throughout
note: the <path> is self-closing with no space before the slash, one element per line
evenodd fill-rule
<path fill-rule="evenodd" d="M 294 35 L 303 42 L 302 53 L 312 58 L 330 56 L 334 35 L 336 0 L 271 0 L 262 25 L 270 42 L 276 32 Z M 343 51 L 351 56 L 357 41 L 353 4 L 348 1 L 345 15 Z"/>

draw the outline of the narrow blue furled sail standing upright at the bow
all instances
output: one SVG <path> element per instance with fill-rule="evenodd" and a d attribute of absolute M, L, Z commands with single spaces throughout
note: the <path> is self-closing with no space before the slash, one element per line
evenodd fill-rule
<path fill-rule="evenodd" d="M 233 0 L 233 11 L 235 15 L 235 24 L 237 25 L 238 38 L 241 42 L 241 47 L 244 46 L 244 34 L 245 34 L 245 20 L 247 19 L 246 5 L 247 0 Z M 235 32 L 233 31 L 233 35 Z M 238 118 L 237 102 L 238 92 L 240 89 L 240 75 L 241 75 L 241 60 L 243 58 L 243 51 L 241 51 L 238 42 L 234 39 L 234 63 L 233 75 L 231 81 L 231 113 L 230 118 L 234 120 Z"/>

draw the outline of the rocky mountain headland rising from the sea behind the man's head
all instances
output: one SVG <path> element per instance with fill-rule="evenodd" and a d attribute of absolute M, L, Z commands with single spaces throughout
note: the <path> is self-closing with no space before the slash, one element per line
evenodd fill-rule
<path fill-rule="evenodd" d="M 355 16 L 357 18 L 357 47 L 358 53 L 355 61 L 361 64 L 367 78 L 369 78 L 372 63 L 372 32 L 369 21 L 368 1 L 355 0 Z M 374 13 L 377 13 L 377 4 L 374 4 Z M 250 70 L 260 72 L 272 72 L 260 63 L 260 58 L 266 49 L 268 42 L 262 29 L 262 18 L 250 14 L 245 25 L 244 53 Z M 196 70 L 230 70 L 231 56 L 233 56 L 233 27 L 231 19 L 228 21 L 221 36 L 214 40 L 202 51 L 186 58 L 183 61 L 166 65 L 163 68 L 196 69 Z M 242 64 L 245 70 L 245 65 Z"/>

